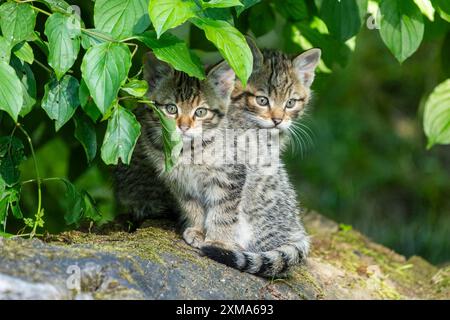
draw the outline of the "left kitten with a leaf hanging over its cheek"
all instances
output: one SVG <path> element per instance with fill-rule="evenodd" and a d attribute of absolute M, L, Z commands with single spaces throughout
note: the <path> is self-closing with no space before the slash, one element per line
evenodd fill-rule
<path fill-rule="evenodd" d="M 148 54 L 144 79 L 149 83 L 148 98 L 176 121 L 176 130 L 185 144 L 199 138 L 205 154 L 211 154 L 215 137 L 225 127 L 234 88 L 233 70 L 223 62 L 200 81 Z M 137 220 L 166 212 L 175 204 L 183 220 L 184 239 L 199 247 L 203 242 L 205 206 L 217 177 L 223 174 L 222 168 L 179 162 L 172 171 L 165 172 L 157 115 L 148 107 L 138 108 L 135 115 L 142 133 L 130 166 L 121 165 L 116 171 L 117 195 Z"/>

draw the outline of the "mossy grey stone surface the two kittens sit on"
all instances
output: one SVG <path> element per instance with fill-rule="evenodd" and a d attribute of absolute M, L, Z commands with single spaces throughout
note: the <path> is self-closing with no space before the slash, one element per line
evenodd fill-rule
<path fill-rule="evenodd" d="M 285 279 L 200 257 L 168 221 L 0 239 L 0 299 L 450 299 L 450 267 L 406 259 L 312 212 L 304 220 L 312 253 Z"/>

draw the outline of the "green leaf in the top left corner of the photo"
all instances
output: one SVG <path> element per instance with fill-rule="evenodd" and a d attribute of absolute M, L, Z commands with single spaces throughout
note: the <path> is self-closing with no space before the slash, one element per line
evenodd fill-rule
<path fill-rule="evenodd" d="M 0 6 L 0 26 L 3 36 L 12 46 L 28 40 L 34 34 L 36 14 L 27 3 L 6 2 Z"/>

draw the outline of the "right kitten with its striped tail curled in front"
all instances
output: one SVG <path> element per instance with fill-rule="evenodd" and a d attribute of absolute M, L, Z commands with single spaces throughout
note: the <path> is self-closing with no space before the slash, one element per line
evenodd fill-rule
<path fill-rule="evenodd" d="M 229 125 L 278 132 L 285 144 L 293 121 L 301 117 L 310 99 L 321 52 L 311 49 L 291 59 L 281 52 L 261 53 L 249 42 L 254 71 L 245 88 L 236 84 Z M 309 239 L 284 166 L 280 163 L 270 172 L 258 165 L 235 166 L 227 182 L 228 194 L 216 200 L 225 202 L 222 206 L 227 210 L 208 213 L 202 252 L 245 272 L 285 275 L 306 257 Z"/>

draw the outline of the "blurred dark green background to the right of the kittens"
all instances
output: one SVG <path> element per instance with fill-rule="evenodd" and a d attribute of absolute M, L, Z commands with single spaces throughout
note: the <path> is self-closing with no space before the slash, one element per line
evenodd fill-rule
<path fill-rule="evenodd" d="M 306 207 L 434 263 L 450 260 L 450 148 L 426 150 L 419 109 L 445 79 L 441 41 L 401 66 L 363 31 L 348 66 L 316 83 L 314 146 L 286 157 Z"/>

